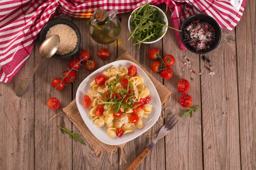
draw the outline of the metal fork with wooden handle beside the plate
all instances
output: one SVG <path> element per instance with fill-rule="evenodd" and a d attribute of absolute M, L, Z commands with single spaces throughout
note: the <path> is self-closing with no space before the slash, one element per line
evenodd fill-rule
<path fill-rule="evenodd" d="M 139 156 L 132 162 L 132 164 L 130 164 L 127 167 L 126 170 L 136 169 L 137 166 L 139 166 L 142 160 L 146 157 L 146 155 L 149 154 L 154 145 L 156 145 L 156 142 L 159 141 L 165 135 L 167 135 L 171 131 L 171 129 L 174 128 L 176 123 L 178 123 L 178 120 L 175 118 L 174 115 L 171 116 L 171 118 L 169 118 L 169 120 L 162 126 L 156 139 L 154 139 L 153 142 L 151 142 L 151 144 L 149 144 L 149 146 L 146 147 L 146 149 L 144 149 L 144 151 L 141 154 L 139 154 Z"/>

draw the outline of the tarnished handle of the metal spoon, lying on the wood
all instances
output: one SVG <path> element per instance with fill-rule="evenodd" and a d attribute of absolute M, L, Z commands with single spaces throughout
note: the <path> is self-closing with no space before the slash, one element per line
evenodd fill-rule
<path fill-rule="evenodd" d="M 38 68 L 38 66 L 42 62 L 42 60 L 43 60 L 43 57 L 40 57 L 40 60 L 38 61 L 36 66 L 33 68 L 32 72 L 18 86 L 18 88 L 16 89 L 16 96 L 21 97 L 24 94 L 24 92 L 26 91 L 26 89 L 28 87 L 29 82 L 31 81 L 31 78 L 33 77 L 33 74 L 36 72 L 36 69 Z"/>

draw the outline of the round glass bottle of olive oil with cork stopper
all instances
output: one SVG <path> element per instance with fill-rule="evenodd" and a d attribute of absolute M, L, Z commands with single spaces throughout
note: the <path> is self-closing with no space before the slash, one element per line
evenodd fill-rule
<path fill-rule="evenodd" d="M 117 40 L 121 26 L 118 20 L 117 10 L 107 12 L 97 10 L 93 13 L 90 22 L 90 36 L 100 44 L 109 44 Z"/>

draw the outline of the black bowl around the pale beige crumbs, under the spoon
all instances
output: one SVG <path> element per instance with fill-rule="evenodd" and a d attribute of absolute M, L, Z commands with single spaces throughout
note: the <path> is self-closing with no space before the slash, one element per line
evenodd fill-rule
<path fill-rule="evenodd" d="M 64 24 L 64 25 L 72 28 L 75 31 L 75 35 L 77 37 L 77 42 L 76 42 L 76 45 L 74 45 L 75 47 L 73 48 L 73 50 L 70 50 L 69 52 L 67 52 L 65 54 L 61 54 L 61 55 L 55 53 L 55 55 L 53 55 L 53 58 L 64 59 L 64 58 L 72 57 L 73 55 L 76 55 L 78 53 L 80 43 L 81 43 L 81 33 L 80 33 L 79 28 L 75 25 L 75 23 L 73 23 L 72 21 L 70 21 L 68 19 L 53 18 L 50 21 L 48 21 L 48 23 L 46 23 L 46 25 L 43 26 L 43 28 L 41 29 L 40 42 L 42 43 L 44 40 L 46 40 L 46 35 L 47 35 L 48 31 L 50 30 L 50 28 L 53 28 L 53 26 L 57 26 L 58 24 Z M 66 33 L 65 31 L 63 31 L 63 33 L 69 34 L 69 33 Z M 60 37 L 60 41 L 61 41 L 61 37 Z"/>

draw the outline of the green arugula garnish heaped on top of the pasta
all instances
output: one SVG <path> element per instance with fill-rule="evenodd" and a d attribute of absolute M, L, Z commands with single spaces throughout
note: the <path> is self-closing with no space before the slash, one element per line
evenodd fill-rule
<path fill-rule="evenodd" d="M 102 103 L 104 103 L 107 106 L 107 110 L 110 111 L 110 108 L 112 108 L 115 115 L 118 113 L 120 108 L 129 109 L 129 108 L 137 108 L 139 106 L 139 105 L 134 106 L 135 97 L 134 97 L 133 86 L 132 86 L 132 83 L 129 81 L 129 79 L 127 80 L 128 80 L 128 85 L 126 90 L 119 89 L 119 91 L 114 91 L 118 83 L 122 84 L 122 82 L 119 81 L 119 75 L 117 74 L 116 79 L 114 79 L 108 85 L 107 95 L 101 92 L 98 92 L 102 96 L 102 99 L 103 99 Z M 110 98 L 110 94 L 117 94 L 120 97 L 117 98 L 114 95 L 113 98 Z"/>

